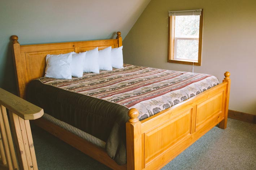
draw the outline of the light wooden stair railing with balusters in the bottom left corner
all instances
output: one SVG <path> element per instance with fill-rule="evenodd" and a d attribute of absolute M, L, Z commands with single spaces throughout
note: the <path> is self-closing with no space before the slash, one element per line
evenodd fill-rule
<path fill-rule="evenodd" d="M 40 118 L 43 113 L 38 106 L 0 88 L 1 170 L 38 170 L 29 120 Z"/>

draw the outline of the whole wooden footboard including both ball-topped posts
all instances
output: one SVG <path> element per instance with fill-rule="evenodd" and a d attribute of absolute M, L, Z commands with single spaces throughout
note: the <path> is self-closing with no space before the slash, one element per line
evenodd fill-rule
<path fill-rule="evenodd" d="M 127 169 L 160 169 L 218 123 L 226 128 L 230 73 L 224 75 L 223 83 L 141 122 L 130 109 Z"/>

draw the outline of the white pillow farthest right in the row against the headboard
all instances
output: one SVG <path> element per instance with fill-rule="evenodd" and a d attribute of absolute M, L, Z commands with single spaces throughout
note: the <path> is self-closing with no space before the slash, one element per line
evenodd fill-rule
<path fill-rule="evenodd" d="M 123 46 L 118 48 L 112 48 L 111 50 L 111 62 L 112 67 L 117 69 L 123 68 Z"/>

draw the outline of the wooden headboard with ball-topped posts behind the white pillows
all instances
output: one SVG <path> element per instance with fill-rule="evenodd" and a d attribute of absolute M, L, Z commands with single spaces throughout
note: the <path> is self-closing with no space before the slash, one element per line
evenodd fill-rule
<path fill-rule="evenodd" d="M 12 35 L 13 64 L 19 97 L 25 99 L 26 86 L 31 80 L 43 77 L 45 73 L 45 57 L 47 54 L 64 54 L 69 52 L 85 52 L 96 47 L 121 47 L 121 32 L 117 32 L 116 39 L 93 40 L 81 42 L 51 43 L 20 45 L 18 36 Z"/>

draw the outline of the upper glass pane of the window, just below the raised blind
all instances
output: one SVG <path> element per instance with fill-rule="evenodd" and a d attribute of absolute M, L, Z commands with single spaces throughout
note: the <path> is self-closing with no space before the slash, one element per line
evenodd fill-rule
<path fill-rule="evenodd" d="M 200 16 L 175 16 L 175 36 L 199 36 Z"/>

